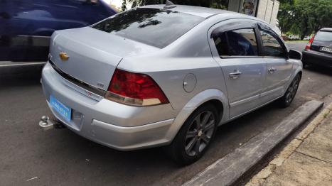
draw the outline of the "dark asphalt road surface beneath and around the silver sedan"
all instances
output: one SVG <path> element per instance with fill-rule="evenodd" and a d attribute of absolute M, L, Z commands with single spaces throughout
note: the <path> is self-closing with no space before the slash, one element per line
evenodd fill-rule
<path fill-rule="evenodd" d="M 304 48 L 305 44 L 295 45 Z M 205 156 L 181 168 L 163 148 L 119 152 L 68 129 L 41 131 L 39 118 L 50 111 L 39 72 L 38 67 L 0 68 L 0 185 L 181 185 L 304 102 L 324 99 L 332 92 L 331 70 L 305 70 L 299 93 L 289 108 L 269 104 L 221 126 Z"/>

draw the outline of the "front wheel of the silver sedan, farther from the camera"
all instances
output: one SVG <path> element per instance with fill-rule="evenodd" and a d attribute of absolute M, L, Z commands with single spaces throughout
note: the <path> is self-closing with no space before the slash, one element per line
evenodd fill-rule
<path fill-rule="evenodd" d="M 282 107 L 287 107 L 293 102 L 296 95 L 297 89 L 299 89 L 299 84 L 301 81 L 301 76 L 298 74 L 294 77 L 294 80 L 289 84 L 289 87 L 283 97 L 279 99 L 279 104 Z"/>

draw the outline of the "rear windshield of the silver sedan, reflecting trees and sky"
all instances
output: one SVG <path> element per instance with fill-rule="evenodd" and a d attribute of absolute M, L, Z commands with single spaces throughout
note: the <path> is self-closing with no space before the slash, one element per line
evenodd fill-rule
<path fill-rule="evenodd" d="M 164 48 L 203 20 L 177 11 L 137 8 L 112 16 L 92 28 Z"/>

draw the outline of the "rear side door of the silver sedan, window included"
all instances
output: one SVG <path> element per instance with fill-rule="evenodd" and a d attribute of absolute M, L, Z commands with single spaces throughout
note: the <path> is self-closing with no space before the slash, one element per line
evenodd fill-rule
<path fill-rule="evenodd" d="M 213 58 L 223 71 L 230 118 L 259 106 L 266 63 L 259 56 L 255 21 L 235 18 L 210 28 Z"/>

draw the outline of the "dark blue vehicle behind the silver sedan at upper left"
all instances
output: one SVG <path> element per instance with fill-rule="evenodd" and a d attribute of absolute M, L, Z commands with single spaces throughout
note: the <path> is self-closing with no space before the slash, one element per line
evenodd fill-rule
<path fill-rule="evenodd" d="M 0 0 L 0 61 L 46 61 L 54 31 L 89 26 L 115 13 L 102 0 Z"/>

